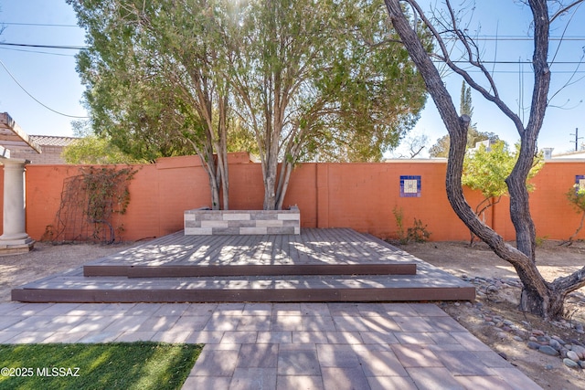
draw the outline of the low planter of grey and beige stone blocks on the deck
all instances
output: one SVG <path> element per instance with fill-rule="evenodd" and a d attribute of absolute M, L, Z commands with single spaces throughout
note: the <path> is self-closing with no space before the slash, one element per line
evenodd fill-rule
<path fill-rule="evenodd" d="M 301 211 L 206 210 L 185 212 L 185 235 L 285 235 L 301 234 Z"/>

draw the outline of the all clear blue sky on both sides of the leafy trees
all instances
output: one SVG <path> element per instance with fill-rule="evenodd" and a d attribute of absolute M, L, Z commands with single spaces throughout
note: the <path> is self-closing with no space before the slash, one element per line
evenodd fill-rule
<path fill-rule="evenodd" d="M 435 4 L 435 1 L 432 0 L 430 3 Z M 459 3 L 454 2 L 457 5 Z M 470 35 L 501 37 L 497 42 L 495 40 L 478 42 L 482 45 L 484 58 L 498 62 L 494 64 L 494 75 L 500 93 L 509 106 L 518 111 L 518 103 L 521 102 L 522 96 L 520 86 L 524 85 L 525 106 L 529 105 L 532 88 L 529 65 L 531 42 L 517 39 L 528 37 L 529 10 L 513 0 L 478 0 L 476 3 L 473 13 L 471 11 L 466 13 L 466 16 L 472 16 L 469 24 Z M 565 17 L 557 23 L 557 28 L 551 32 L 552 37 L 561 36 L 567 21 L 568 17 Z M 65 0 L 0 1 L 0 23 L 5 24 L 0 42 L 72 47 L 84 45 L 84 32 L 79 27 L 71 27 L 77 24 L 77 20 Z M 563 42 L 555 58 L 557 62 L 570 64 L 558 63 L 552 67 L 552 91 L 558 90 L 569 80 L 571 72 L 577 69 L 575 63 L 582 59 L 585 46 L 585 29 L 582 26 L 585 26 L 585 5 L 577 11 L 565 33 L 574 40 Z M 558 43 L 558 40 L 552 42 L 551 56 L 554 55 Z M 0 60 L 28 93 L 54 111 L 85 116 L 87 112 L 80 104 L 84 87 L 80 84 L 73 57 L 76 53 L 76 50 L 69 49 L 0 45 Z M 518 60 L 524 64 L 519 65 Z M 501 63 L 508 61 L 516 63 Z M 585 77 L 585 66 L 581 66 L 574 76 L 573 81 L 577 82 L 561 90 L 552 100 L 551 105 L 563 108 L 549 108 L 539 138 L 539 147 L 554 147 L 555 153 L 574 148 L 574 144 L 569 143 L 574 137 L 569 136 L 569 133 L 574 133 L 575 128 L 580 128 L 580 134 L 585 137 L 583 121 L 585 102 L 581 102 L 585 97 L 585 80 L 580 79 L 582 77 Z M 445 82 L 452 91 L 455 105 L 458 107 L 461 79 L 448 76 Z M 37 103 L 16 84 L 1 65 L 0 86 L 0 112 L 7 111 L 25 132 L 73 135 L 70 124 L 72 118 L 49 111 Z M 473 107 L 473 121 L 477 122 L 480 131 L 495 132 L 510 143 L 519 139 L 511 122 L 476 93 L 473 93 Z M 414 132 L 425 133 L 431 144 L 447 133 L 431 100 L 428 101 Z M 582 141 L 585 141 L 585 138 Z"/>

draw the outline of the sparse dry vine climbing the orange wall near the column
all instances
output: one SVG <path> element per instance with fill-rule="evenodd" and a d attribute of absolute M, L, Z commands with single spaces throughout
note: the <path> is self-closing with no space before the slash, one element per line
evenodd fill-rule
<path fill-rule="evenodd" d="M 93 241 L 112 244 L 123 232 L 122 218 L 130 204 L 128 186 L 136 170 L 82 167 L 63 183 L 55 226 L 43 239 L 53 242 Z"/>

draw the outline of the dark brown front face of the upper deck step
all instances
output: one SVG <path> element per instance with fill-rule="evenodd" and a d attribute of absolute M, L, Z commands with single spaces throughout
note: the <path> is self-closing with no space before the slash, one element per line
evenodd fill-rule
<path fill-rule="evenodd" d="M 127 278 L 190 278 L 225 276 L 302 276 L 302 275 L 416 275 L 415 263 L 389 264 L 294 264 L 230 266 L 126 266 L 88 265 L 86 277 L 124 276 Z"/>

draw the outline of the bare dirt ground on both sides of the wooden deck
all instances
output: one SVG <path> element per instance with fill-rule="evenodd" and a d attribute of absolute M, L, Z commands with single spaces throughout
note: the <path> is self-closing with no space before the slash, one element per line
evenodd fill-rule
<path fill-rule="evenodd" d="M 537 248 L 538 269 L 545 279 L 553 280 L 561 275 L 585 266 L 585 244 L 559 247 L 558 242 L 546 241 Z M 79 244 L 53 246 L 37 243 L 35 249 L 24 255 L 0 257 L 0 301 L 10 300 L 10 290 L 29 281 L 77 268 L 92 259 L 131 247 L 132 243 L 114 245 Z M 585 343 L 585 334 L 577 332 L 576 323 L 585 323 L 585 289 L 574 293 L 567 309 L 570 321 L 545 322 L 537 317 L 517 310 L 520 289 L 500 281 L 516 279 L 514 269 L 484 244 L 470 248 L 463 242 L 430 242 L 400 246 L 412 255 L 421 258 L 457 277 L 470 279 L 476 284 L 477 300 L 470 302 L 438 302 L 441 308 L 495 352 L 502 353 L 518 369 L 531 377 L 545 389 L 582 389 L 585 374 L 581 369 L 571 369 L 558 356 L 527 347 L 527 337 L 532 331 L 541 331 L 570 343 L 570 340 Z M 477 277 L 483 279 L 475 279 Z M 487 320 L 499 321 L 494 325 Z M 518 325 L 518 334 L 502 332 L 503 321 Z M 573 325 L 571 327 L 571 324 Z M 521 332 L 520 332 L 521 331 Z M 516 335 L 516 339 L 513 336 Z"/>

